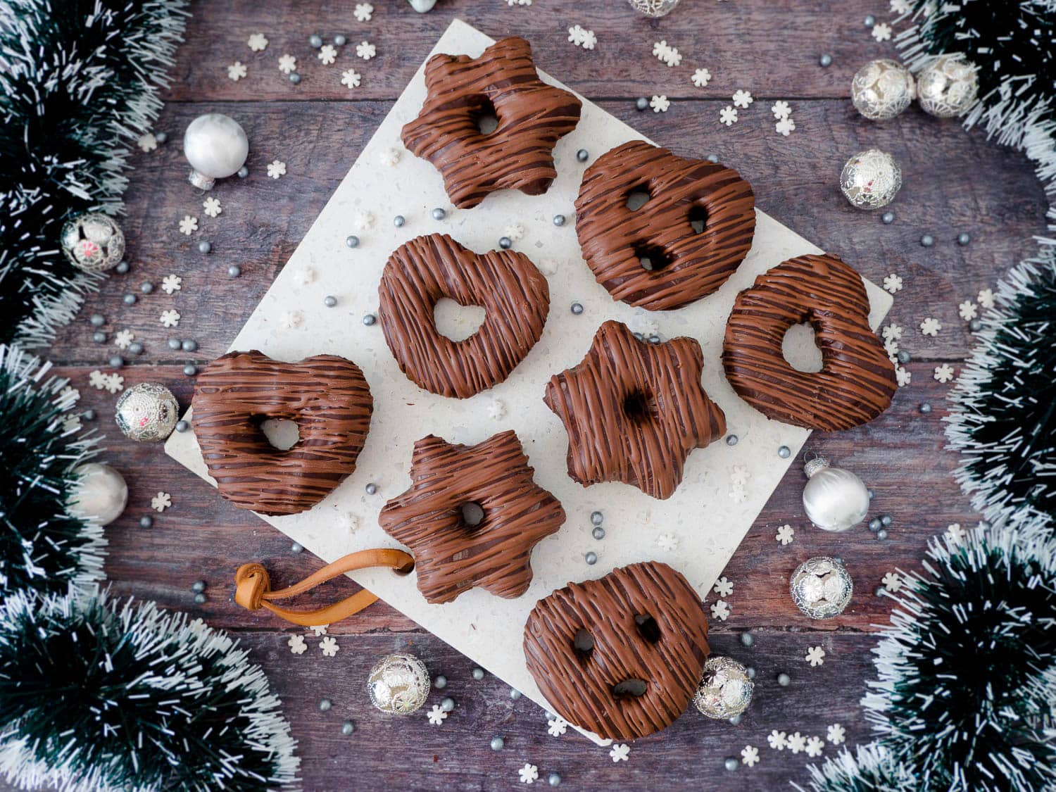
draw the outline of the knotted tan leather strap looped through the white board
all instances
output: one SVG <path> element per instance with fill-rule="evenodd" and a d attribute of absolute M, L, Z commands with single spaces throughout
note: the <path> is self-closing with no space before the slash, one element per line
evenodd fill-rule
<path fill-rule="evenodd" d="M 389 567 L 406 573 L 414 569 L 414 558 L 402 550 L 360 550 L 342 555 L 333 564 L 327 564 L 319 571 L 313 572 L 300 583 L 279 591 L 271 590 L 271 581 L 263 566 L 256 563 L 243 564 L 234 573 L 234 601 L 248 610 L 267 608 L 280 619 L 304 627 L 333 624 L 362 610 L 376 602 L 378 598 L 364 588 L 340 602 L 317 610 L 289 610 L 271 603 L 275 600 L 285 600 L 304 593 L 339 574 L 375 566 Z"/>

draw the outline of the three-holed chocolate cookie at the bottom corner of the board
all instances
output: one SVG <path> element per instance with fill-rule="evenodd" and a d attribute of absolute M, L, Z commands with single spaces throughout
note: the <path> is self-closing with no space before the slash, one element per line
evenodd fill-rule
<path fill-rule="evenodd" d="M 540 600 L 524 648 L 561 717 L 606 739 L 635 739 L 671 725 L 693 699 L 708 619 L 685 578 L 649 561 Z"/>

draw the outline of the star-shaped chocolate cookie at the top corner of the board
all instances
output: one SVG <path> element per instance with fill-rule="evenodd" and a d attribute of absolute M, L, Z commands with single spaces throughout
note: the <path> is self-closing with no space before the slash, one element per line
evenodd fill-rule
<path fill-rule="evenodd" d="M 527 41 L 504 38 L 478 58 L 434 55 L 426 90 L 421 112 L 400 136 L 440 171 L 455 206 L 469 209 L 495 190 L 549 189 L 558 175 L 553 147 L 576 128 L 581 102 L 539 78 Z M 483 132 L 488 116 L 498 126 Z"/>

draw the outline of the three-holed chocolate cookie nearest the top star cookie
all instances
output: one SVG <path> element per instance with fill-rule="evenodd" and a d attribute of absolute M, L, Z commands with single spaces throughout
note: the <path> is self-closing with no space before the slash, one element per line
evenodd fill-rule
<path fill-rule="evenodd" d="M 633 196 L 647 201 L 635 208 Z M 671 310 L 712 294 L 737 269 L 755 235 L 755 197 L 732 168 L 631 140 L 583 174 L 576 232 L 614 299 Z"/>

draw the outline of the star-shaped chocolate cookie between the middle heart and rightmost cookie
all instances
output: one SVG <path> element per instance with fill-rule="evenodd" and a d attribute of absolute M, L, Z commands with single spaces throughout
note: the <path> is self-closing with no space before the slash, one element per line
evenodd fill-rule
<path fill-rule="evenodd" d="M 568 475 L 671 497 L 690 452 L 725 432 L 725 415 L 700 384 L 703 365 L 695 339 L 652 344 L 605 322 L 582 362 L 546 386 L 544 401 L 568 432 Z"/>

